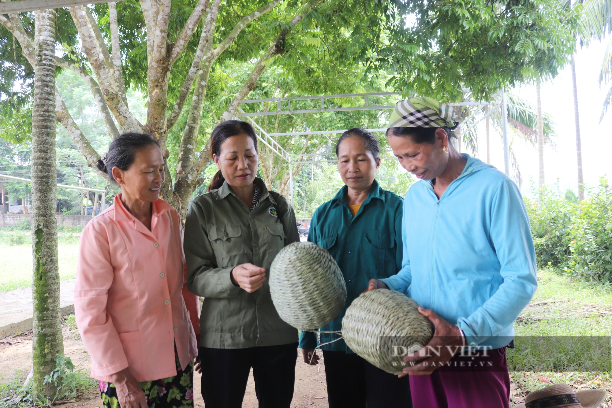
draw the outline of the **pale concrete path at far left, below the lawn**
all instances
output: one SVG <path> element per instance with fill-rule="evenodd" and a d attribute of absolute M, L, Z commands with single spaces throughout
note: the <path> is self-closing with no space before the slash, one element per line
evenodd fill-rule
<path fill-rule="evenodd" d="M 75 280 L 61 281 L 60 307 L 62 314 L 74 311 Z M 17 291 L 0 292 L 0 338 L 32 328 L 32 288 L 24 287 Z"/>

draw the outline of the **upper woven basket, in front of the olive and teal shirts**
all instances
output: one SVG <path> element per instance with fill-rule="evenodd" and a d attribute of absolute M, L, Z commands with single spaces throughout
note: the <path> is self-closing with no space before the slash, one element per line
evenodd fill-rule
<path fill-rule="evenodd" d="M 270 294 L 283 321 L 314 330 L 338 316 L 346 302 L 346 283 L 329 252 L 312 242 L 296 242 L 274 258 Z"/>

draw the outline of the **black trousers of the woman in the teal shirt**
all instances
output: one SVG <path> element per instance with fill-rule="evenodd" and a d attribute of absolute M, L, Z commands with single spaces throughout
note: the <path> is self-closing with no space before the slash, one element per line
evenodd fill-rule
<path fill-rule="evenodd" d="M 357 354 L 323 351 L 329 408 L 412 408 L 408 376 L 398 378 Z"/>

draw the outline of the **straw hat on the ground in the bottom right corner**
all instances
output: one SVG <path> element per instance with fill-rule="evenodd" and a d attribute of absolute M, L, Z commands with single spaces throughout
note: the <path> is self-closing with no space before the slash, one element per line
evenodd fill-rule
<path fill-rule="evenodd" d="M 584 390 L 575 392 L 567 384 L 554 384 L 530 393 L 525 402 L 514 408 L 597 408 L 606 398 L 605 390 Z"/>

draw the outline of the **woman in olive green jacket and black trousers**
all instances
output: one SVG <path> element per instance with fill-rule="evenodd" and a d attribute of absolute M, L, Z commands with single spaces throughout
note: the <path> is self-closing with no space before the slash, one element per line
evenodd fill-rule
<path fill-rule="evenodd" d="M 298 242 L 286 199 L 257 174 L 251 125 L 225 121 L 211 135 L 219 171 L 185 220 L 187 287 L 204 297 L 200 316 L 202 396 L 206 408 L 242 406 L 253 368 L 260 406 L 289 407 L 297 330 L 283 322 L 267 284 L 272 260 Z"/>

